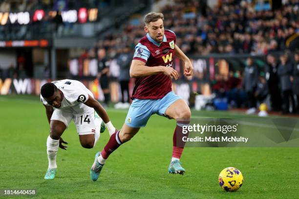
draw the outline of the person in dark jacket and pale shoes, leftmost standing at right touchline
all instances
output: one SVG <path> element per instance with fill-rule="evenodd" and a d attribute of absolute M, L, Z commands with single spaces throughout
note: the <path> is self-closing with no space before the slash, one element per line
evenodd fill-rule
<path fill-rule="evenodd" d="M 247 93 L 247 106 L 249 109 L 246 113 L 253 114 L 256 112 L 256 98 L 254 93 L 258 80 L 258 68 L 254 65 L 252 58 L 247 58 L 246 63 L 242 85 Z"/>

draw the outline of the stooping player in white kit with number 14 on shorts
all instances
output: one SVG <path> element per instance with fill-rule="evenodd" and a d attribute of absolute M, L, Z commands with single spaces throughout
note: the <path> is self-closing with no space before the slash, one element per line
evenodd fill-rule
<path fill-rule="evenodd" d="M 58 147 L 67 147 L 63 145 L 67 142 L 61 136 L 71 120 L 75 122 L 84 148 L 94 147 L 100 138 L 100 132 L 105 131 L 105 126 L 110 135 L 116 132 L 103 106 L 80 81 L 59 80 L 45 83 L 41 88 L 41 101 L 50 124 L 50 135 L 47 138 L 49 165 L 44 179 L 54 179 L 56 176 Z"/>

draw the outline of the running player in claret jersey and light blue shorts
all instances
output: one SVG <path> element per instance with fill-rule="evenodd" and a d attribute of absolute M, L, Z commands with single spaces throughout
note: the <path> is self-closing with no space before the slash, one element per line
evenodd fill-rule
<path fill-rule="evenodd" d="M 192 75 L 193 66 L 175 44 L 175 34 L 171 30 L 164 31 L 163 20 L 162 13 L 151 12 L 145 16 L 144 30 L 147 34 L 136 45 L 130 67 L 131 78 L 136 78 L 133 102 L 122 129 L 113 134 L 102 152 L 95 156 L 90 170 L 90 177 L 94 181 L 98 179 L 108 156 L 130 140 L 140 127 L 144 127 L 152 114 L 177 120 L 169 173 L 185 172 L 179 161 L 183 147 L 177 146 L 176 131 L 181 132 L 183 125 L 189 124 L 191 112 L 186 102 L 171 90 L 171 79 L 178 78 L 177 71 L 172 68 L 173 57 L 177 56 L 184 61 L 186 76 Z"/>

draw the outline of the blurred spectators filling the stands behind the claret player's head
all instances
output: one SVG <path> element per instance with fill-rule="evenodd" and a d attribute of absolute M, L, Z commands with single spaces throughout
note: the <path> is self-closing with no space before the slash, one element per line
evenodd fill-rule
<path fill-rule="evenodd" d="M 169 12 L 171 10 L 171 12 Z M 288 0 L 275 12 L 256 11 L 252 1 L 222 0 L 214 8 L 198 0 L 174 0 L 161 10 L 164 26 L 177 36 L 188 54 L 211 53 L 267 55 L 285 50 L 286 41 L 299 34 L 299 1 Z M 113 56 L 120 46 L 133 47 L 144 36 L 144 23 L 125 23 L 97 46 Z"/>

